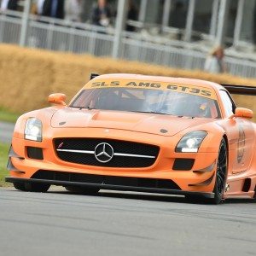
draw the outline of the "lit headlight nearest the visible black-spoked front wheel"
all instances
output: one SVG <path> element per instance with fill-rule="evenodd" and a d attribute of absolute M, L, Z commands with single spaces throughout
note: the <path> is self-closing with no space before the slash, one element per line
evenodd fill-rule
<path fill-rule="evenodd" d="M 191 131 L 185 134 L 177 143 L 175 152 L 197 152 L 206 136 L 207 131 Z"/>

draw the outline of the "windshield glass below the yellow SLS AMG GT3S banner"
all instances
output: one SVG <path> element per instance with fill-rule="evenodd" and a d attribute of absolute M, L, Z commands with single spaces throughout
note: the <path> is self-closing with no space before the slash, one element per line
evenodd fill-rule
<path fill-rule="evenodd" d="M 81 91 L 70 107 L 219 118 L 216 100 L 172 90 L 87 89 Z"/>

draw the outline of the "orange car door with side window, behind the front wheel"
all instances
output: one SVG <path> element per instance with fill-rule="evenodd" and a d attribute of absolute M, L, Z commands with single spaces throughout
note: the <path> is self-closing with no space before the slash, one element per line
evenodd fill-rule
<path fill-rule="evenodd" d="M 226 90 L 219 94 L 228 115 L 235 113 L 236 105 Z M 229 137 L 230 167 L 232 173 L 246 172 L 253 157 L 253 124 L 244 118 L 228 120 L 226 133 Z"/>

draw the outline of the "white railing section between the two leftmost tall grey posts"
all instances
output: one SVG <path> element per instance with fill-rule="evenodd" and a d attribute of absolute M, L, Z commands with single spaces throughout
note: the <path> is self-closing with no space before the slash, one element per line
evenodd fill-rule
<path fill-rule="evenodd" d="M 28 47 L 111 55 L 113 36 L 81 27 L 64 26 L 53 22 L 32 20 L 27 31 Z"/>

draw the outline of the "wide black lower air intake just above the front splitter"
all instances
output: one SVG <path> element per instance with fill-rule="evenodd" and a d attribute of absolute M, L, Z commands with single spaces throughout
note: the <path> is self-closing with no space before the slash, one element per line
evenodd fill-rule
<path fill-rule="evenodd" d="M 63 182 L 106 184 L 116 186 L 130 186 L 136 188 L 151 189 L 177 189 L 180 187 L 170 179 L 146 178 L 146 177 L 118 177 L 74 172 L 55 172 L 40 170 L 33 174 L 34 179 L 44 179 Z"/>

